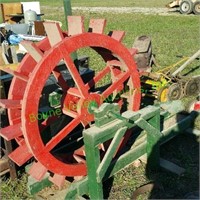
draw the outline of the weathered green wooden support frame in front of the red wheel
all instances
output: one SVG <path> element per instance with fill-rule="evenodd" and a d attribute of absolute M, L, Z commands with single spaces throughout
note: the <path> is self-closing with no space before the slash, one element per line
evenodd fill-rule
<path fill-rule="evenodd" d="M 171 105 L 171 109 L 170 109 Z M 127 111 L 120 116 L 113 113 L 114 105 L 103 104 L 96 111 L 96 121 L 99 116 L 115 116 L 106 124 L 98 124 L 84 131 L 85 153 L 87 161 L 88 175 L 83 180 L 73 183 L 68 189 L 65 199 L 76 199 L 84 194 L 91 199 L 103 199 L 103 181 L 113 176 L 133 161 L 147 153 L 148 167 L 159 168 L 163 166 L 163 159 L 160 158 L 160 145 L 172 139 L 182 131 L 191 127 L 194 119 L 200 114 L 193 111 L 190 115 L 184 115 L 180 121 L 170 123 L 170 126 L 160 130 L 161 117 L 164 121 L 170 121 L 173 117 L 184 110 L 180 101 L 164 105 L 166 110 L 160 107 L 148 106 L 138 112 Z M 102 109 L 103 108 L 103 109 Z M 176 109 L 175 109 L 176 108 Z M 172 113 L 172 110 L 175 112 Z M 130 150 L 115 158 L 115 152 L 120 145 L 126 131 L 138 126 L 144 131 L 135 140 Z M 137 133 L 132 133 L 136 134 Z M 112 139 L 103 159 L 100 157 L 99 145 Z M 114 159 L 113 159 L 114 158 Z M 169 170 L 169 168 L 166 169 Z"/>

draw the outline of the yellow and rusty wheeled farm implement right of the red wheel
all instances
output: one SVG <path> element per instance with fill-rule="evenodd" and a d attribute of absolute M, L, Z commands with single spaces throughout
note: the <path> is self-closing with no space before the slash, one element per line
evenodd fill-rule
<path fill-rule="evenodd" d="M 156 98 L 160 102 L 178 100 L 183 97 L 198 96 L 200 94 L 200 75 L 183 76 L 181 72 L 195 59 L 199 59 L 200 50 L 190 58 L 183 58 L 178 63 L 163 68 L 157 72 L 141 72 L 142 91 L 144 96 Z M 172 71 L 177 65 L 174 72 Z"/>

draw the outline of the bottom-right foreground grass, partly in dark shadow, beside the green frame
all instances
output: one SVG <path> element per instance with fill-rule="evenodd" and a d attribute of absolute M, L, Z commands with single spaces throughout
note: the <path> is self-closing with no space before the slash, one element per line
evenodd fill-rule
<path fill-rule="evenodd" d="M 198 191 L 199 144 L 193 137 L 181 135 L 161 147 L 161 157 L 184 167 L 186 172 L 175 175 L 165 170 L 147 171 L 130 165 L 119 172 L 112 183 L 109 199 L 131 199 L 132 193 L 149 182 L 159 184 L 159 189 L 141 195 L 139 199 L 183 199 L 190 192 Z"/>

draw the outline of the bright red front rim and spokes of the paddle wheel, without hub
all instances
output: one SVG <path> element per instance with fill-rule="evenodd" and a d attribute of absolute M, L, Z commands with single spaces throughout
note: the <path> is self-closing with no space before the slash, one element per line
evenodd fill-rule
<path fill-rule="evenodd" d="M 78 41 L 80 41 L 81 38 L 84 38 L 84 40 L 82 40 L 82 43 L 78 43 Z M 42 86 L 45 84 L 45 81 L 47 80 L 48 75 L 52 72 L 53 67 L 56 66 L 60 60 L 64 58 L 68 66 L 69 65 L 73 66 L 74 64 L 72 63 L 71 58 L 69 57 L 69 55 L 72 52 L 84 46 L 96 47 L 98 46 L 99 41 L 102 41 L 102 40 L 106 41 L 105 44 L 102 45 L 104 48 L 111 49 L 110 47 L 119 46 L 119 44 L 115 40 L 112 40 L 108 36 L 102 36 L 102 35 L 98 35 L 94 33 L 85 33 L 81 36 L 74 36 L 74 37 L 71 37 L 70 39 L 68 38 L 64 39 L 62 43 L 54 47 L 52 52 L 45 55 L 43 60 L 40 61 L 40 63 L 38 63 L 38 65 L 36 66 L 35 70 L 32 73 L 32 77 L 30 79 L 29 85 L 25 91 L 24 98 L 26 99 L 26 101 L 24 101 L 24 104 L 22 107 L 22 116 L 24 116 L 22 117 L 22 128 L 25 130 L 24 136 L 25 136 L 26 142 L 30 144 L 30 149 L 32 149 L 32 153 L 34 157 L 37 160 L 40 160 L 43 165 L 47 165 L 48 163 L 48 169 L 54 173 L 59 173 L 65 176 L 80 176 L 80 175 L 86 174 L 86 168 L 85 168 L 85 165 L 83 164 L 78 164 L 77 167 L 75 167 L 75 165 L 67 165 L 67 164 L 63 165 L 63 163 L 61 163 L 60 161 L 52 157 L 49 151 L 52 150 L 56 144 L 58 144 L 58 141 L 61 140 L 61 137 L 57 137 L 57 141 L 55 137 L 45 147 L 42 140 L 38 140 L 40 138 L 40 132 L 39 130 L 38 131 L 35 130 L 37 127 L 37 123 L 30 123 L 27 113 L 37 114 L 38 104 L 34 102 L 39 102 Z M 77 45 L 77 43 L 79 45 Z M 113 50 L 113 53 L 115 54 L 119 53 L 117 49 L 113 48 L 112 50 Z M 133 67 L 134 63 L 132 62 L 132 57 L 131 56 L 127 57 L 127 53 L 128 53 L 127 50 L 121 47 L 120 51 L 122 50 L 124 51 L 123 55 L 126 55 L 126 58 L 125 59 L 122 58 L 122 59 L 129 68 L 129 70 L 123 75 L 123 78 L 121 79 L 122 82 L 124 82 L 125 80 L 127 80 L 128 77 L 130 77 L 131 72 L 132 73 L 136 72 L 136 68 Z M 49 67 L 49 69 L 47 69 L 47 66 Z M 82 96 L 81 100 L 91 99 L 91 100 L 96 101 L 97 98 L 96 99 L 93 98 L 87 92 L 88 89 L 86 88 L 86 86 L 84 86 L 81 83 L 81 80 L 77 80 L 78 76 L 77 76 L 77 73 L 75 73 L 76 70 L 74 71 L 75 69 L 74 66 L 72 68 L 68 67 L 68 70 L 70 71 L 71 74 L 73 74 L 72 75 L 73 79 L 74 81 L 76 81 L 76 84 L 78 85 L 77 86 L 78 90 Z M 46 77 L 44 75 L 41 76 L 42 73 L 44 73 Z M 38 83 L 38 80 L 40 80 L 39 83 Z M 135 88 L 139 88 L 138 81 L 136 81 L 137 79 L 135 78 L 133 79 L 132 77 L 132 80 L 133 80 L 133 84 L 135 85 Z M 119 84 L 120 81 L 116 82 L 115 84 L 117 83 Z M 111 87 L 113 87 L 113 85 Z M 32 91 L 35 91 L 35 92 L 33 93 Z M 99 97 L 99 100 L 97 101 L 100 101 L 101 98 L 108 97 L 113 92 L 114 92 L 114 89 L 112 88 L 111 88 L 111 91 L 106 90 L 102 94 L 102 96 Z M 137 100 L 139 100 L 138 94 L 139 94 L 138 92 L 135 94 L 137 95 L 135 97 Z M 100 104 L 100 102 L 98 102 L 98 104 Z M 135 107 L 136 105 L 137 107 Z M 133 110 L 136 110 L 136 109 L 138 109 L 138 102 L 134 103 Z M 70 133 L 72 131 L 72 128 L 75 128 L 80 123 L 80 121 L 84 121 L 84 119 L 82 119 L 83 114 L 81 112 L 79 114 L 80 115 L 74 118 L 73 121 L 61 133 L 58 133 L 58 134 L 62 135 L 66 131 Z M 86 115 L 88 115 L 88 113 Z M 35 131 L 34 137 L 33 135 L 31 135 L 33 131 Z M 67 133 L 64 133 L 64 135 L 66 136 Z M 45 156 L 45 159 L 44 159 L 44 156 Z"/>

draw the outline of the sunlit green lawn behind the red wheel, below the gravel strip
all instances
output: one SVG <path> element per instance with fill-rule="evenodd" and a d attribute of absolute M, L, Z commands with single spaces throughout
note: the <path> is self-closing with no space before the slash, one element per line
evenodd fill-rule
<path fill-rule="evenodd" d="M 49 8 L 43 8 L 43 12 L 46 13 L 45 18 L 61 21 L 62 28 L 66 30 L 64 13 L 57 12 L 56 16 L 55 14 L 48 15 Z M 76 11 L 73 14 L 84 16 L 86 30 L 88 29 L 90 18 L 106 18 L 105 33 L 110 30 L 126 31 L 123 43 L 129 48 L 137 36 L 150 36 L 153 44 L 153 53 L 156 55 L 157 63 L 160 66 L 158 69 L 178 62 L 180 60 L 178 56 L 191 56 L 199 49 L 198 16 L 87 13 L 81 11 Z M 97 63 L 94 62 L 94 65 L 98 65 Z M 195 67 L 197 65 L 198 62 L 196 61 L 192 66 Z M 200 69 L 195 70 L 193 74 L 200 74 Z"/>

